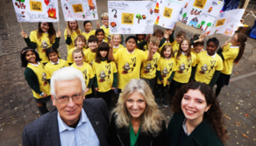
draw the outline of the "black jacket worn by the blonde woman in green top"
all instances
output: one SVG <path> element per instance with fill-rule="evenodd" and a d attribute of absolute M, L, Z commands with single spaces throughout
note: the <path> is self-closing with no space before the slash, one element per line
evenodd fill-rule
<path fill-rule="evenodd" d="M 115 114 L 111 118 L 108 142 L 110 146 L 131 146 L 129 128 L 117 128 Z M 162 121 L 161 131 L 158 136 L 139 133 L 138 146 L 165 146 L 167 137 L 166 122 Z"/>

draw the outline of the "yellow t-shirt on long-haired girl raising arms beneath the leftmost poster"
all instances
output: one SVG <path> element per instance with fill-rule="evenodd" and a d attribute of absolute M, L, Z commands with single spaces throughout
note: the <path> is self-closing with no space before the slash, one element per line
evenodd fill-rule
<path fill-rule="evenodd" d="M 30 40 L 37 44 L 37 49 L 39 52 L 39 57 L 42 59 L 42 63 L 46 63 L 49 61 L 49 59 L 46 56 L 46 49 L 48 47 L 51 47 L 53 44 L 50 43 L 50 39 L 48 38 L 48 34 L 42 33 L 42 37 L 38 38 L 37 36 L 38 31 L 31 31 L 30 33 Z M 53 40 L 53 43 L 55 42 L 55 38 Z"/>

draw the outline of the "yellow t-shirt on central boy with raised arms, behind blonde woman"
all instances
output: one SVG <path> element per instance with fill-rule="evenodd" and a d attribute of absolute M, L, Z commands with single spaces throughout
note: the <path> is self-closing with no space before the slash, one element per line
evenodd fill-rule
<path fill-rule="evenodd" d="M 148 54 L 139 49 L 130 53 L 124 48 L 118 49 L 113 55 L 118 64 L 117 87 L 123 89 L 131 79 L 139 79 L 141 63 L 146 61 Z"/>

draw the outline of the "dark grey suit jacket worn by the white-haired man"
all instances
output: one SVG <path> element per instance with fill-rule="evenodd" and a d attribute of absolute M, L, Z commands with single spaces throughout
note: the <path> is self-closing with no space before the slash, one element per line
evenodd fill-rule
<path fill-rule="evenodd" d="M 110 124 L 108 108 L 102 98 L 83 101 L 82 108 L 89 118 L 101 146 L 108 146 L 107 134 Z M 55 108 L 42 115 L 23 130 L 24 146 L 59 146 L 60 133 L 58 126 L 58 110 Z"/>

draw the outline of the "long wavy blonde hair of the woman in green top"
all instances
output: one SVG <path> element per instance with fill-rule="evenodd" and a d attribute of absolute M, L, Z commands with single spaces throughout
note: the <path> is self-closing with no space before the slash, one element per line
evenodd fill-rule
<path fill-rule="evenodd" d="M 157 108 L 157 104 L 154 101 L 154 96 L 150 87 L 147 85 L 145 80 L 132 79 L 128 84 L 125 85 L 122 93 L 119 95 L 117 101 L 117 108 L 114 108 L 112 114 L 116 113 L 116 124 L 118 128 L 129 128 L 132 115 L 126 108 L 125 102 L 134 93 L 139 92 L 146 101 L 146 109 L 141 117 L 141 132 L 150 133 L 153 136 L 158 136 L 161 130 L 162 120 L 165 120 L 164 115 Z"/>

